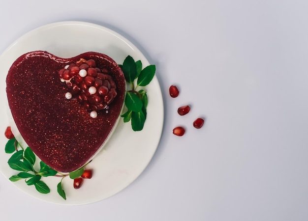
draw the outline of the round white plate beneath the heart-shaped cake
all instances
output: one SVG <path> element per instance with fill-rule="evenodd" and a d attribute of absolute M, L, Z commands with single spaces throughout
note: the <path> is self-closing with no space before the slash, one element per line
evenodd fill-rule
<path fill-rule="evenodd" d="M 36 28 L 15 41 L 0 56 L 1 101 L 6 101 L 5 78 L 11 64 L 20 55 L 44 50 L 60 57 L 72 57 L 84 52 L 94 51 L 112 57 L 122 64 L 127 55 L 141 60 L 143 66 L 150 63 L 145 56 L 127 39 L 108 28 L 85 22 L 60 22 Z M 57 204 L 77 205 L 103 200 L 119 193 L 132 183 L 151 161 L 160 140 L 163 127 L 163 100 L 157 78 L 146 87 L 149 104 L 148 115 L 141 132 L 133 132 L 130 123 L 121 119 L 104 149 L 87 166 L 93 169 L 92 179 L 85 180 L 83 186 L 75 190 L 73 180 L 63 179 L 62 185 L 67 199 L 57 193 L 57 184 L 61 178 L 43 177 L 49 186 L 48 194 L 38 193 L 34 186 L 28 186 L 24 180 L 12 182 L 22 191 L 32 196 Z M 6 178 L 16 175 L 6 163 L 11 154 L 4 152 L 7 139 L 4 130 L 9 126 L 7 110 L 0 109 L 1 131 L 0 171 Z M 8 180 L 8 182 L 10 182 Z"/>

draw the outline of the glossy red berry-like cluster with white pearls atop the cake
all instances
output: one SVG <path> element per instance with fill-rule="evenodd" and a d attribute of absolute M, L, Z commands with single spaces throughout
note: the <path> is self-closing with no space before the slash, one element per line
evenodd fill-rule
<path fill-rule="evenodd" d="M 117 86 L 108 74 L 106 68 L 96 67 L 93 59 L 80 59 L 76 63 L 66 65 L 59 71 L 59 77 L 66 83 L 68 92 L 66 99 L 76 98 L 91 110 L 90 115 L 95 118 L 97 111 L 105 109 L 117 96 Z"/>

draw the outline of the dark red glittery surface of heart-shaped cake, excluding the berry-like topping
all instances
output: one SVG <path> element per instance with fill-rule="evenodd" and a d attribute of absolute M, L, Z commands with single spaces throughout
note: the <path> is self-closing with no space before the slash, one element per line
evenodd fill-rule
<path fill-rule="evenodd" d="M 98 111 L 96 118 L 78 101 L 65 98 L 67 88 L 58 76 L 66 64 L 80 58 L 107 68 L 117 85 L 118 95 L 108 113 Z M 13 63 L 6 92 L 16 126 L 32 151 L 55 170 L 70 172 L 84 166 L 109 136 L 122 109 L 125 79 L 116 62 L 104 54 L 87 52 L 66 59 L 35 51 Z"/>

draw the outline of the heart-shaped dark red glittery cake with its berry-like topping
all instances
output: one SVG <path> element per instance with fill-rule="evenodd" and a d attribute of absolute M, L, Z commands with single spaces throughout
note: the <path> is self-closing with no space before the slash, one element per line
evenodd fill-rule
<path fill-rule="evenodd" d="M 100 150 L 118 122 L 125 90 L 118 64 L 95 52 L 72 58 L 30 52 L 13 63 L 6 78 L 19 133 L 59 172 L 84 166 Z"/>

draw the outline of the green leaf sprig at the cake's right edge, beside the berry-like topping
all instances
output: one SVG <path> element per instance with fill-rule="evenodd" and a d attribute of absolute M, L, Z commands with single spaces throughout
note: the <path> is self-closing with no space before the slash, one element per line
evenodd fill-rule
<path fill-rule="evenodd" d="M 154 78 L 155 65 L 149 65 L 142 69 L 142 62 L 128 55 L 123 65 L 119 65 L 123 71 L 125 80 L 131 89 L 126 91 L 125 106 L 127 111 L 121 116 L 124 122 L 131 121 L 133 131 L 141 131 L 147 118 L 148 96 L 145 90 L 137 90 L 138 87 L 148 85 Z"/>

